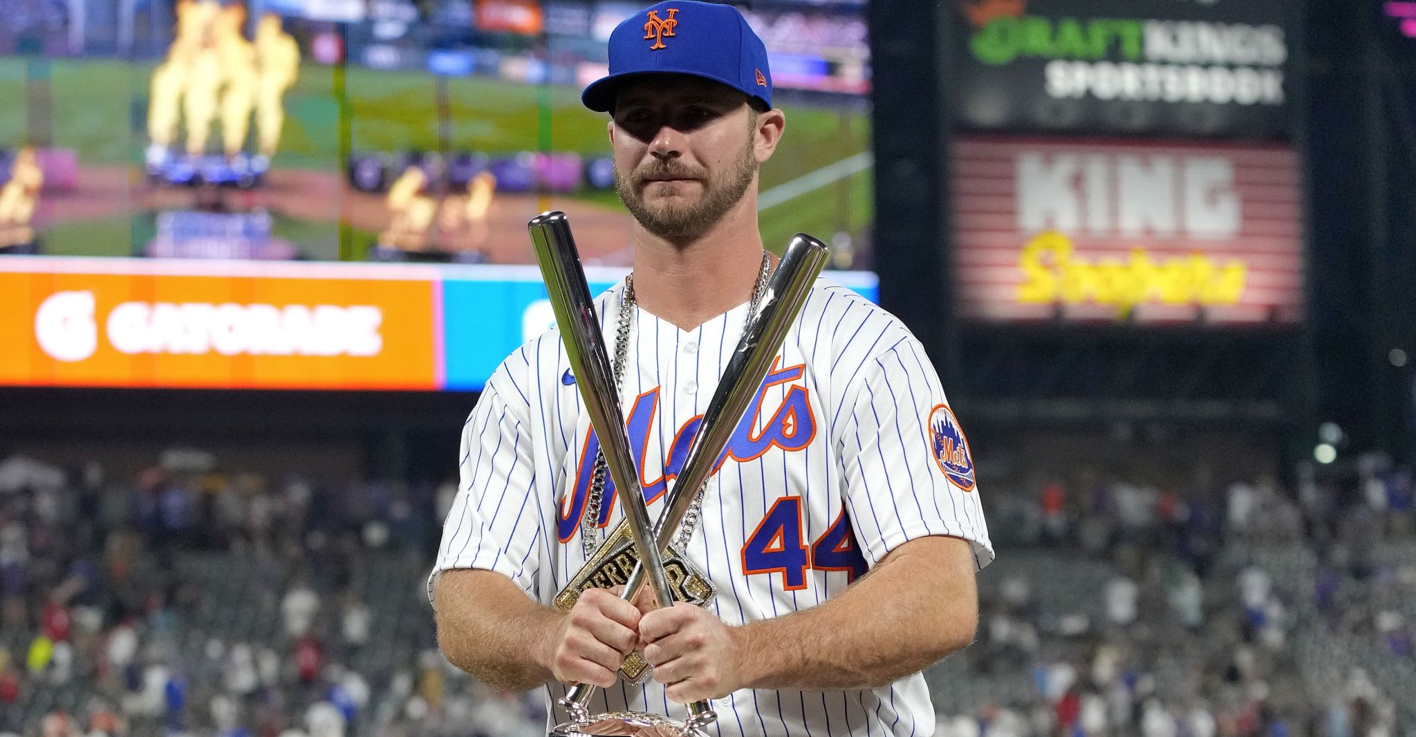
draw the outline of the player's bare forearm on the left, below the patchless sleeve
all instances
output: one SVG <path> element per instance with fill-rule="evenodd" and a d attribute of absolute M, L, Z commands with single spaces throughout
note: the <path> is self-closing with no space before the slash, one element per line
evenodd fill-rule
<path fill-rule="evenodd" d="M 438 645 L 483 683 L 527 690 L 551 679 L 549 644 L 562 614 L 500 573 L 449 570 L 438 579 Z"/>

